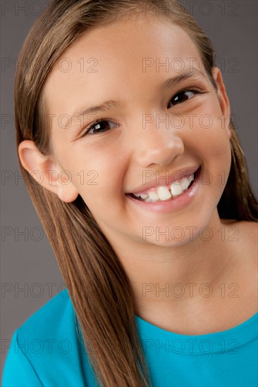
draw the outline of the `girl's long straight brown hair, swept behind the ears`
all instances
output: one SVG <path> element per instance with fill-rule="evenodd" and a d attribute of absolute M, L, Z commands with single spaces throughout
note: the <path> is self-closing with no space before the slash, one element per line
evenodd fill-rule
<path fill-rule="evenodd" d="M 18 58 L 26 65 L 18 66 L 15 80 L 17 147 L 28 139 L 43 155 L 51 155 L 42 91 L 52 66 L 68 46 L 90 28 L 143 14 L 147 8 L 149 15 L 166 18 L 189 34 L 216 88 L 211 41 L 178 1 L 55 0 L 32 27 Z M 231 171 L 219 201 L 219 216 L 257 222 L 257 199 L 232 120 L 230 129 Z M 95 377 L 104 386 L 151 386 L 137 336 L 133 292 L 111 244 L 80 195 L 72 203 L 61 201 L 37 184 L 18 161 L 39 219 L 48 235 L 51 230 L 49 241 L 68 286 L 82 344 L 86 350 L 87 343 L 96 344 L 96 350 L 88 353 Z"/>

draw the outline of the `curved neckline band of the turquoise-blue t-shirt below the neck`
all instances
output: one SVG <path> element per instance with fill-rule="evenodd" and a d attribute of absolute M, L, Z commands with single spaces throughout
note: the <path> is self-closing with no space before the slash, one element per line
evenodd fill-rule
<path fill-rule="evenodd" d="M 258 312 L 245 322 L 225 331 L 201 335 L 177 334 L 151 324 L 135 315 L 138 334 L 145 349 L 167 345 L 174 353 L 205 355 L 210 353 L 238 353 L 238 348 L 253 341 L 258 333 Z"/>

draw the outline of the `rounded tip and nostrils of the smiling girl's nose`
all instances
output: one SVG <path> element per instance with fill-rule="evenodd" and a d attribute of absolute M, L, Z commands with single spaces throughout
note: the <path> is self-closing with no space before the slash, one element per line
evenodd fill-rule
<path fill-rule="evenodd" d="M 152 123 L 135 131 L 134 161 L 142 168 L 152 164 L 168 165 L 183 154 L 183 140 L 173 127 L 159 127 Z"/>

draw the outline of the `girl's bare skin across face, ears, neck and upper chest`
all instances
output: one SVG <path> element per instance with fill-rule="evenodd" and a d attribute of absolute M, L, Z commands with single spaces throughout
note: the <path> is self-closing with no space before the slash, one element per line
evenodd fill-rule
<path fill-rule="evenodd" d="M 231 167 L 231 131 L 228 128 L 231 114 L 230 103 L 219 68 L 212 69 L 218 91 L 212 87 L 202 67 L 199 51 L 188 34 L 167 21 L 152 20 L 120 21 L 106 27 L 95 28 L 75 42 L 62 58 L 68 58 L 72 68 L 61 71 L 56 64 L 44 88 L 46 112 L 55 115 L 51 122 L 51 141 L 54 154 L 42 156 L 32 141 L 23 141 L 19 156 L 29 171 L 41 170 L 42 185 L 54 192 L 62 201 L 71 202 L 78 194 L 90 208 L 95 220 L 109 239 L 125 268 L 135 297 L 135 314 L 163 329 L 181 334 L 207 334 L 229 329 L 241 324 L 257 312 L 257 258 L 254 222 L 221 220 L 217 204 L 226 185 L 221 180 L 221 171 L 226 177 Z M 81 71 L 81 58 L 97 58 L 97 72 Z M 178 75 L 173 66 L 166 72 L 155 65 L 142 71 L 142 58 L 181 58 L 185 70 L 191 70 L 186 58 L 197 58 L 194 67 L 202 70 L 204 78 L 185 80 L 176 87 L 159 91 L 160 82 Z M 92 64 L 92 63 L 90 63 Z M 188 96 L 189 100 L 169 105 L 172 97 L 183 88 L 197 87 L 203 94 Z M 85 117 L 74 120 L 73 125 L 63 129 L 58 118 L 63 114 L 72 116 L 106 100 L 121 102 L 120 108 L 96 113 L 92 120 Z M 142 127 L 145 114 L 183 115 L 185 125 L 169 129 L 165 124 L 156 127 L 156 122 Z M 195 114 L 190 121 L 186 114 Z M 212 125 L 205 129 L 199 124 L 202 115 L 209 114 Z M 95 118 L 111 122 L 111 129 L 98 134 L 85 133 L 85 127 Z M 222 125 L 224 117 L 225 125 Z M 63 121 L 64 122 L 64 121 Z M 64 125 L 64 124 L 62 124 Z M 142 182 L 142 171 L 159 171 L 166 175 L 188 165 L 201 165 L 213 179 L 210 184 L 201 184 L 192 203 L 185 208 L 164 214 L 143 210 L 125 192 L 135 190 Z M 49 179 L 46 170 L 56 173 Z M 70 182 L 57 178 L 58 173 L 70 172 Z M 82 184 L 84 170 L 85 182 Z M 88 175 L 88 171 L 97 175 Z M 89 184 L 90 178 L 97 176 Z M 87 184 L 88 182 L 88 184 Z M 163 181 L 160 183 L 163 184 Z M 196 227 L 192 237 L 186 227 Z M 142 228 L 152 227 L 164 231 L 166 227 L 181 227 L 185 234 L 181 241 L 156 233 L 142 240 Z M 213 236 L 209 241 L 199 238 L 199 230 L 209 227 Z M 224 228 L 225 238 L 221 237 Z M 231 241 L 232 229 L 237 230 L 236 241 Z M 205 236 L 205 234 L 204 234 Z M 207 235 L 206 235 L 207 236 Z M 247 257 L 242 260 L 242 257 Z M 248 265 L 247 265 L 248 260 Z M 144 284 L 195 283 L 193 297 L 190 287 L 185 286 L 183 297 L 166 296 L 149 291 L 143 296 Z M 213 286 L 212 296 L 199 294 L 199 286 Z M 224 283 L 226 296 L 221 296 Z M 237 284 L 236 288 L 228 285 Z M 175 293 L 180 291 L 175 288 Z M 235 291 L 236 298 L 228 297 Z M 207 294 L 208 288 L 203 289 Z M 202 294 L 203 294 L 202 293 Z M 245 307 L 243 307 L 245 305 Z M 218 319 L 218 313 L 223 318 Z"/>

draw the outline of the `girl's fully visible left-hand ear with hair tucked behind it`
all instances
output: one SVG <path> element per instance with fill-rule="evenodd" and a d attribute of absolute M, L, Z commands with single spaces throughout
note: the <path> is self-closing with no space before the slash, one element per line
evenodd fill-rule
<path fill-rule="evenodd" d="M 54 192 L 61 201 L 66 203 L 77 198 L 79 193 L 70 181 L 68 173 L 64 172 L 52 158 L 42 155 L 34 141 L 22 141 L 18 146 L 18 154 L 20 163 L 37 184 Z"/>

